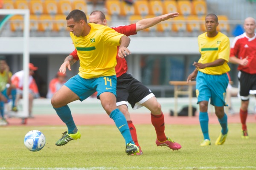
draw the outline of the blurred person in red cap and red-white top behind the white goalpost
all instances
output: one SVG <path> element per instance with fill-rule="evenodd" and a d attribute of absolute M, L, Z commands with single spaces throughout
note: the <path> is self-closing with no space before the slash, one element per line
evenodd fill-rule
<path fill-rule="evenodd" d="M 32 77 L 34 71 L 36 71 L 38 67 L 35 67 L 32 63 L 29 63 L 29 117 L 32 118 L 32 105 L 33 99 L 39 97 L 38 87 L 35 83 L 35 79 Z M 14 84 L 17 88 L 17 95 L 15 100 L 15 105 L 17 106 L 19 99 L 22 97 L 23 93 L 23 76 L 24 71 L 18 71 L 12 76 L 12 84 Z"/>

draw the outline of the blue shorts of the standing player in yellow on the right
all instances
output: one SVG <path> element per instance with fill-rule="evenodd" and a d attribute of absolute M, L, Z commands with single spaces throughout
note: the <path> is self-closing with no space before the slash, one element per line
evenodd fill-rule
<path fill-rule="evenodd" d="M 198 103 L 211 99 L 211 105 L 227 106 L 225 102 L 226 89 L 228 85 L 227 74 L 211 75 L 198 71 L 196 77 L 196 96 Z"/>

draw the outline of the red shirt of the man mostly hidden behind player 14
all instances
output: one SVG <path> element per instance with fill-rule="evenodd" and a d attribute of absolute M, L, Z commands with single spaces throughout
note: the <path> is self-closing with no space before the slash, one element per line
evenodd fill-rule
<path fill-rule="evenodd" d="M 136 32 L 136 24 L 131 24 L 128 26 L 117 26 L 117 27 L 111 27 L 113 30 L 115 30 L 118 33 L 124 34 L 126 36 L 135 35 Z M 119 50 L 119 46 L 117 47 L 117 51 Z M 70 53 L 70 55 L 73 56 L 74 59 L 79 60 L 79 57 L 77 56 L 76 49 Z M 116 77 L 120 77 L 122 74 L 125 74 L 128 70 L 127 62 L 125 58 L 120 58 L 116 54 Z"/>

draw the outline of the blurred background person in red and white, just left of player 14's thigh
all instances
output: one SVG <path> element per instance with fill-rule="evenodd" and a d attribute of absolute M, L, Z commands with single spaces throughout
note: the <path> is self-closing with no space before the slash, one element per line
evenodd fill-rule
<path fill-rule="evenodd" d="M 58 91 L 66 82 L 66 74 L 58 71 L 56 77 L 49 83 L 49 89 L 47 93 L 47 98 L 52 98 L 53 94 Z"/>

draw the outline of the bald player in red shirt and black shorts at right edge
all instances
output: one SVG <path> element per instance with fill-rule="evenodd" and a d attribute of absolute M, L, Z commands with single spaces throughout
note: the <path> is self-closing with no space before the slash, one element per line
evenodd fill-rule
<path fill-rule="evenodd" d="M 237 36 L 230 50 L 229 61 L 238 66 L 239 96 L 241 98 L 240 119 L 242 123 L 241 138 L 248 139 L 246 118 L 248 114 L 250 91 L 256 92 L 256 28 L 255 19 L 244 20 L 245 33 Z M 256 93 L 254 93 L 256 94 Z"/>

